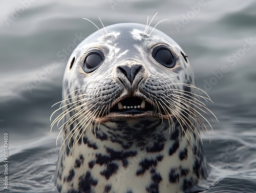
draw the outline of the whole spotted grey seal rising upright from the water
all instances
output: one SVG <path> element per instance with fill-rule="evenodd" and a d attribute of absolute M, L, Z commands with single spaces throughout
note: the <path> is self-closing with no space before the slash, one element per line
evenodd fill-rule
<path fill-rule="evenodd" d="M 149 26 L 104 30 L 74 50 L 63 78 L 63 111 L 52 123 L 64 120 L 58 191 L 180 192 L 197 184 L 209 170 L 199 134 L 207 109 L 186 55 Z"/>

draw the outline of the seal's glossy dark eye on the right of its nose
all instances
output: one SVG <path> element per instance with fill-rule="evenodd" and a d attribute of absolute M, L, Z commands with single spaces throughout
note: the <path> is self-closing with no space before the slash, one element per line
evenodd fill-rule
<path fill-rule="evenodd" d="M 174 68 L 175 59 L 173 53 L 165 46 L 156 47 L 153 50 L 153 58 L 166 68 Z"/>

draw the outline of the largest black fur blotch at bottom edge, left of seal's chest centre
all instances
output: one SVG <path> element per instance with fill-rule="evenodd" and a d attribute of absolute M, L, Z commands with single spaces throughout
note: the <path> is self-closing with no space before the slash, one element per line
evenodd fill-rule
<path fill-rule="evenodd" d="M 90 171 L 87 171 L 86 175 L 79 178 L 79 192 L 93 193 L 92 186 L 96 186 L 98 183 L 97 179 L 94 179 Z"/>

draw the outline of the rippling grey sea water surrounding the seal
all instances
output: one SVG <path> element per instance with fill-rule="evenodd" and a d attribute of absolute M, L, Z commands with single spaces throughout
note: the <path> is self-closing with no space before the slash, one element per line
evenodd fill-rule
<path fill-rule="evenodd" d="M 167 0 L 20 0 L 0 5 L 0 191 L 56 192 L 52 179 L 58 131 L 54 128 L 50 135 L 49 117 L 54 110 L 51 105 L 61 99 L 61 81 L 70 53 L 81 38 L 96 30 L 82 17 L 99 26 L 97 17 L 105 26 L 145 24 L 147 15 L 152 17 L 158 11 L 152 25 L 170 19 L 157 28 L 186 52 L 197 86 L 210 95 L 214 104 L 208 103 L 208 108 L 219 119 L 212 123 L 211 142 L 203 137 L 212 171 L 201 189 L 210 186 L 203 192 L 256 192 L 253 0 L 204 1 L 201 7 L 199 1 Z M 9 137 L 8 190 L 2 180 L 4 133 Z"/>

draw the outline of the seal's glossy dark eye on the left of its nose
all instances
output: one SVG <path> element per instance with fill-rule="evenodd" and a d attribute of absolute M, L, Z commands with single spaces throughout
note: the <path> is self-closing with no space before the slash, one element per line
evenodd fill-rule
<path fill-rule="evenodd" d="M 103 62 L 104 55 L 100 50 L 93 50 L 89 52 L 83 61 L 83 71 L 93 72 L 96 70 Z"/>

